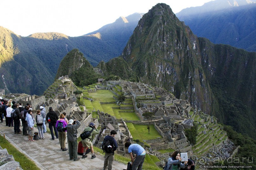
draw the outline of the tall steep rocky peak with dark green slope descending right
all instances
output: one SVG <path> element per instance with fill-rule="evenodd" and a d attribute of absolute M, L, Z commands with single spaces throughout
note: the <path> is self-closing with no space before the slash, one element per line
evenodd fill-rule
<path fill-rule="evenodd" d="M 197 38 L 168 5 L 157 4 L 143 15 L 121 57 L 142 82 L 255 138 L 256 53 Z"/>

